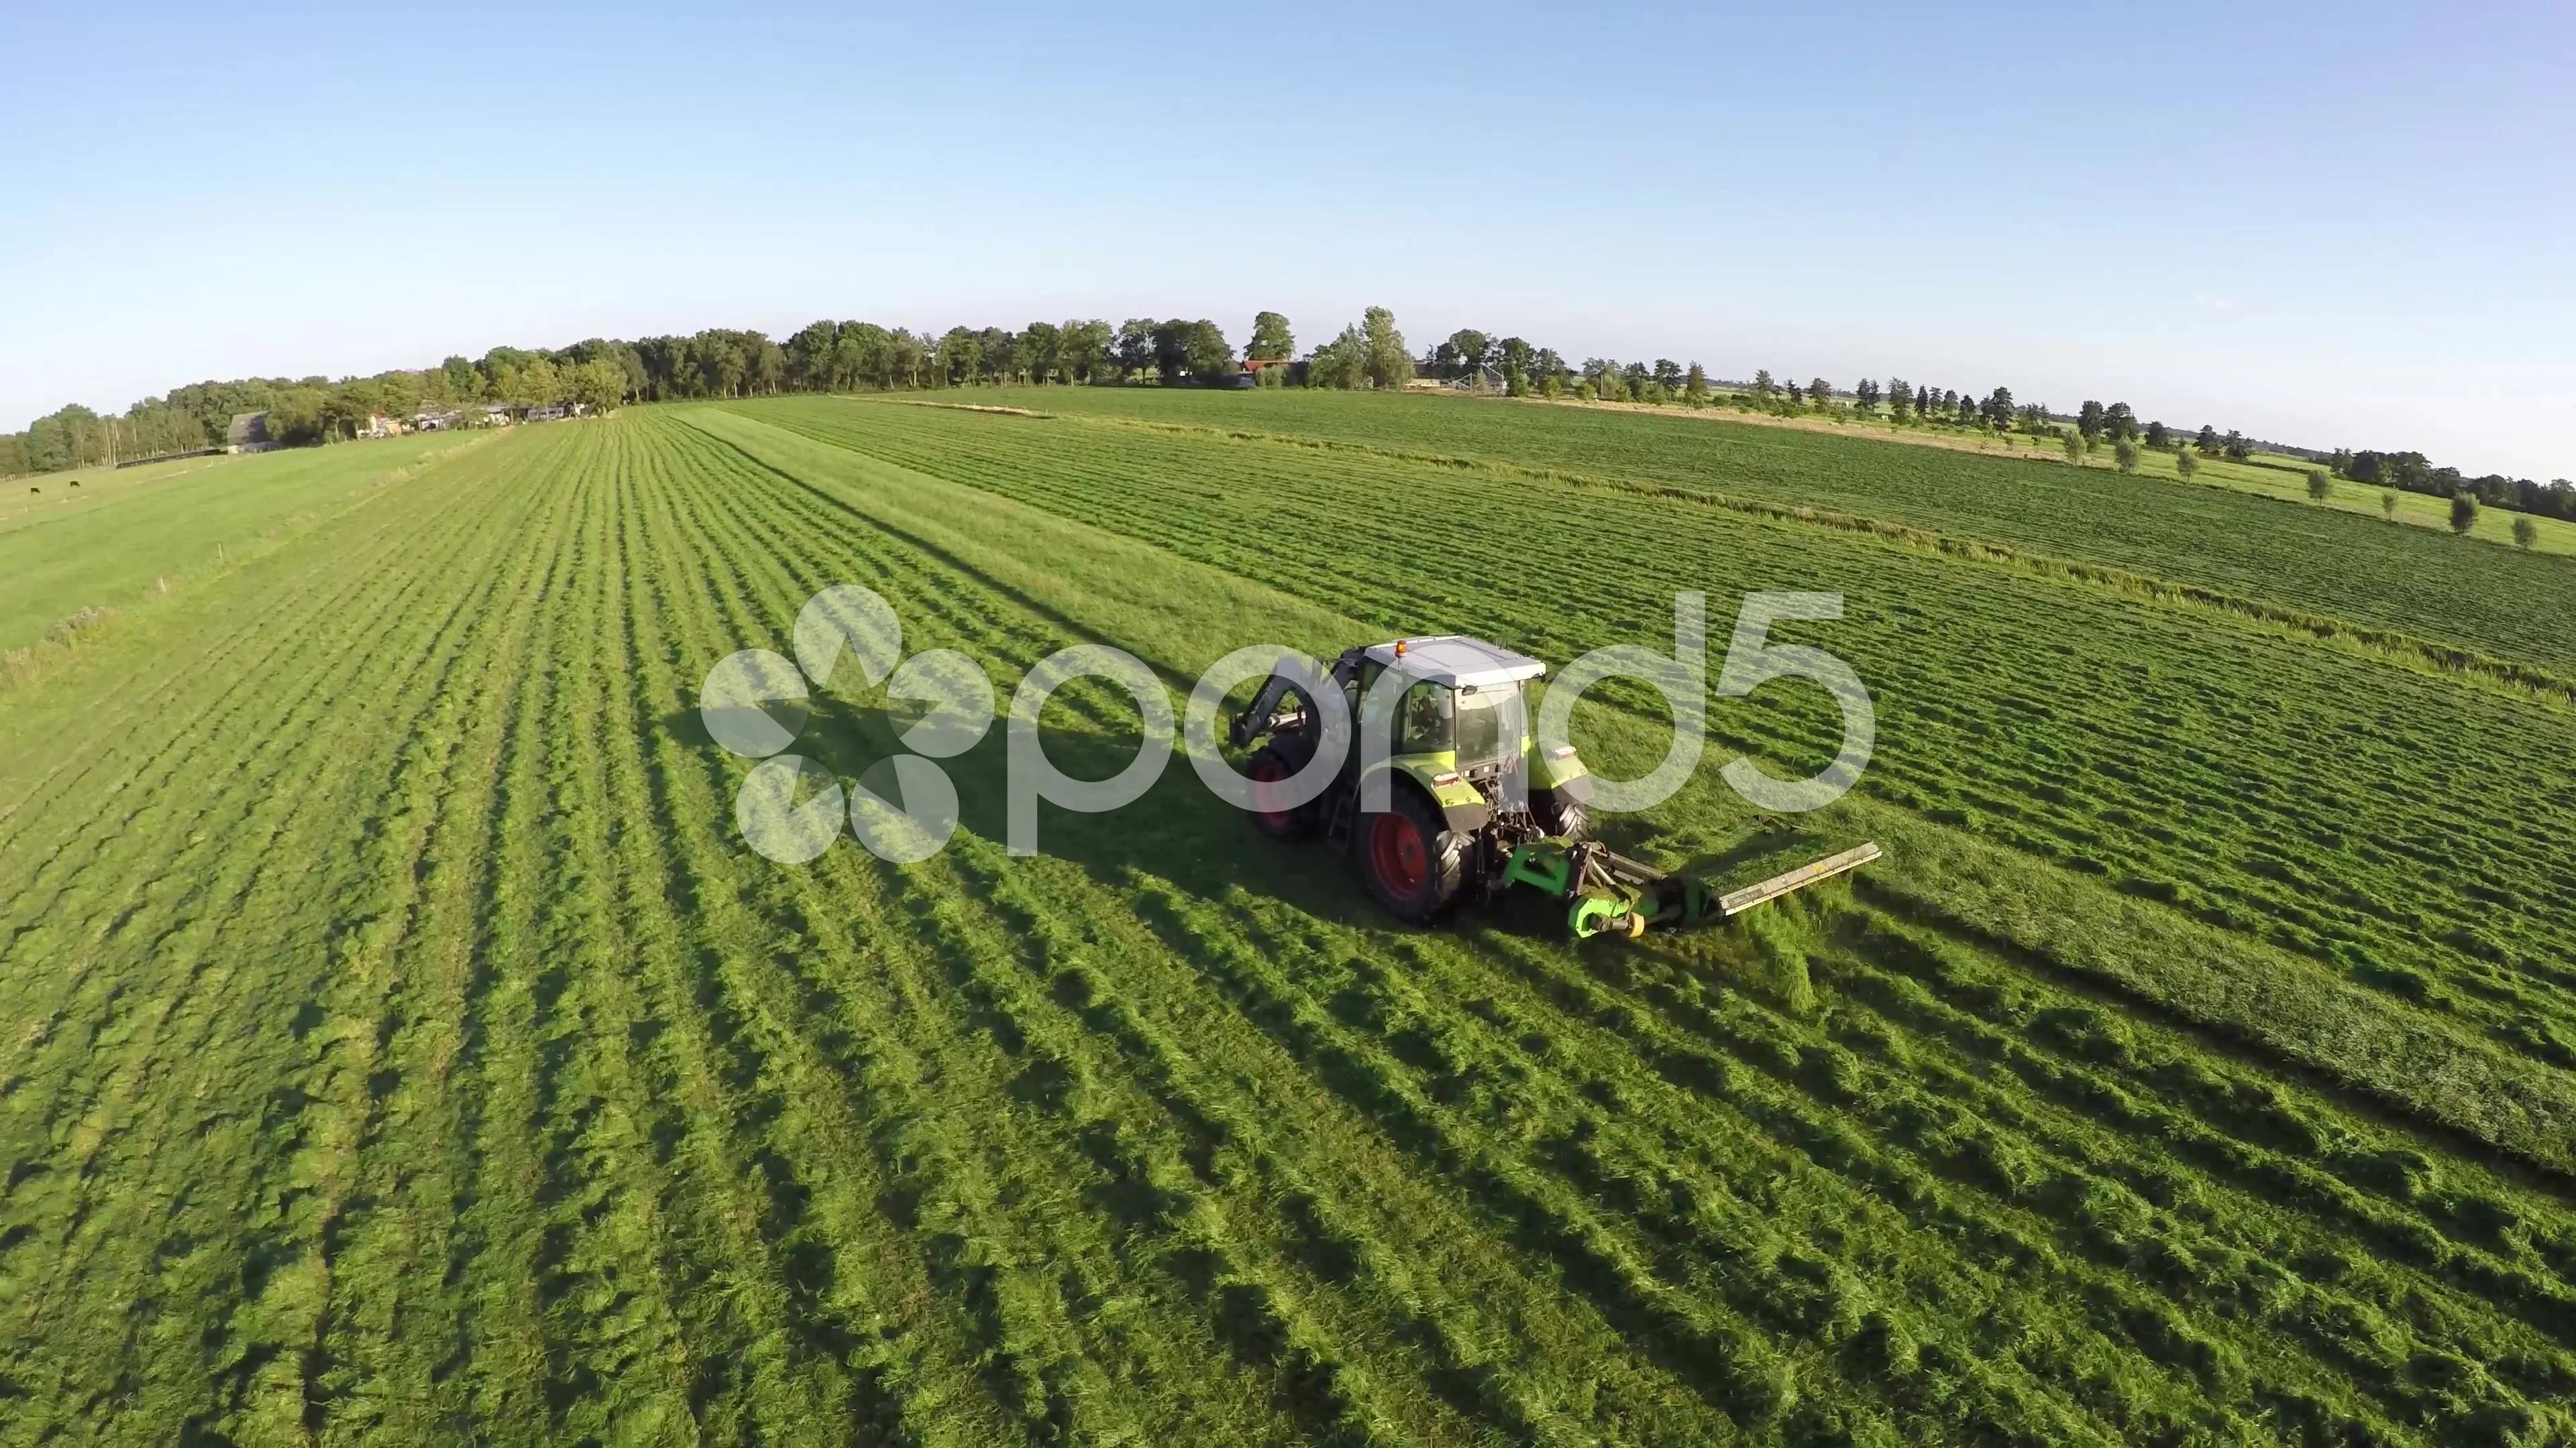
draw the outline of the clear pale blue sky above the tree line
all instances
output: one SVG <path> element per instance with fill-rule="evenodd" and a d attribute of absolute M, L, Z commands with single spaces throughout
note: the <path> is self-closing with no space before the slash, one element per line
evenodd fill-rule
<path fill-rule="evenodd" d="M 2576 8 L 0 10 L 0 425 L 1368 304 L 2576 477 Z"/>

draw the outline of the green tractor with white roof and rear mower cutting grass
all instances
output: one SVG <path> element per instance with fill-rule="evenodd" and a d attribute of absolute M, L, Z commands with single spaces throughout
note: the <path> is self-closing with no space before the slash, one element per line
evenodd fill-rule
<path fill-rule="evenodd" d="M 1314 680 L 1273 672 L 1229 732 L 1249 752 L 1255 824 L 1273 840 L 1321 835 L 1347 850 L 1368 894 L 1409 925 L 1520 884 L 1564 902 L 1577 938 L 1710 925 L 1878 858 L 1878 845 L 1860 845 L 1718 894 L 1613 853 L 1592 840 L 1592 781 L 1574 747 L 1530 729 L 1520 685 L 1546 672 L 1461 634 L 1345 649 Z M 1316 701 L 1327 691 L 1340 696 L 1332 706 Z M 1298 801 L 1288 781 L 1334 737 L 1340 770 Z"/>

